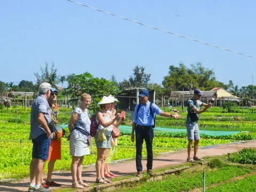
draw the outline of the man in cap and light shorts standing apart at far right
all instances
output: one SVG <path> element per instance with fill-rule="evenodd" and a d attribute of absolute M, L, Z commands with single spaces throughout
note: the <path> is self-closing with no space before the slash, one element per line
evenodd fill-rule
<path fill-rule="evenodd" d="M 199 135 L 199 128 L 198 128 L 198 114 L 203 113 L 208 108 L 212 106 L 211 102 L 214 102 L 214 98 L 211 99 L 211 102 L 208 104 L 200 101 L 201 97 L 203 96 L 203 93 L 201 90 L 196 89 L 194 91 L 193 98 L 188 100 L 187 103 L 187 111 L 188 115 L 186 118 L 186 127 L 187 127 L 187 133 L 188 133 L 188 158 L 187 162 L 195 162 L 195 161 L 202 161 L 200 157 L 197 157 L 197 151 L 198 151 L 198 144 L 200 140 Z M 200 109 L 201 107 L 204 107 L 203 109 Z M 190 151 L 192 148 L 192 144 L 194 142 L 194 157 L 190 157 Z"/>

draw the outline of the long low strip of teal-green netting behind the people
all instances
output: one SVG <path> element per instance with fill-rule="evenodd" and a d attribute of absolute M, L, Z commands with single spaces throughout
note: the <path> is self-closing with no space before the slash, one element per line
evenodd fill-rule
<path fill-rule="evenodd" d="M 61 125 L 63 128 L 68 127 L 68 125 Z M 131 134 L 132 127 L 131 126 L 118 126 L 121 133 Z M 173 128 L 163 128 L 163 127 L 155 127 L 154 133 L 159 134 L 187 134 L 186 129 L 173 129 Z M 240 131 L 207 131 L 200 130 L 201 135 L 209 135 L 209 136 L 225 136 L 240 133 Z"/>

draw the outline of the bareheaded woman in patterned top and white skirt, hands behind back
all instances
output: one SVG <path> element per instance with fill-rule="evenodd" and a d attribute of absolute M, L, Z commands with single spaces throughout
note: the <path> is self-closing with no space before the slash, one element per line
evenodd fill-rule
<path fill-rule="evenodd" d="M 81 105 L 72 112 L 71 119 L 68 124 L 70 134 L 70 155 L 72 156 L 71 175 L 72 187 L 84 189 L 89 187 L 82 180 L 82 166 L 84 155 L 89 155 L 89 135 L 91 121 L 89 118 L 89 110 L 87 109 L 91 103 L 89 94 L 81 95 Z"/>

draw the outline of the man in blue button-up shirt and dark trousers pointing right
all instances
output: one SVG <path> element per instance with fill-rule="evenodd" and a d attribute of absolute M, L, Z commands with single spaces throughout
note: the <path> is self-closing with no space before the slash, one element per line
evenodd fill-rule
<path fill-rule="evenodd" d="M 134 142 L 134 131 L 136 134 L 136 167 L 137 167 L 137 177 L 142 176 L 142 163 L 141 163 L 141 152 L 142 152 L 142 144 L 145 139 L 146 147 L 147 147 L 147 173 L 150 176 L 153 175 L 152 167 L 153 167 L 153 149 L 152 143 L 154 138 L 154 118 L 156 114 L 164 116 L 164 117 L 173 117 L 180 118 L 180 115 L 177 113 L 170 114 L 159 109 L 157 105 L 152 104 L 152 112 L 150 112 L 150 101 L 148 90 L 141 90 L 139 94 L 140 104 L 135 106 L 134 109 L 134 117 L 132 121 L 132 136 L 131 140 Z M 139 107 L 139 111 L 137 113 Z"/>

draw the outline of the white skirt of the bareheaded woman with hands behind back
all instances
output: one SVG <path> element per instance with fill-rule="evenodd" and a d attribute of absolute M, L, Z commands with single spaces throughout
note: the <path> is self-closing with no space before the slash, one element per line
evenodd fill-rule
<path fill-rule="evenodd" d="M 71 134 L 69 141 L 69 154 L 75 157 L 82 157 L 90 154 L 87 139 L 80 137 L 79 134 Z"/>

